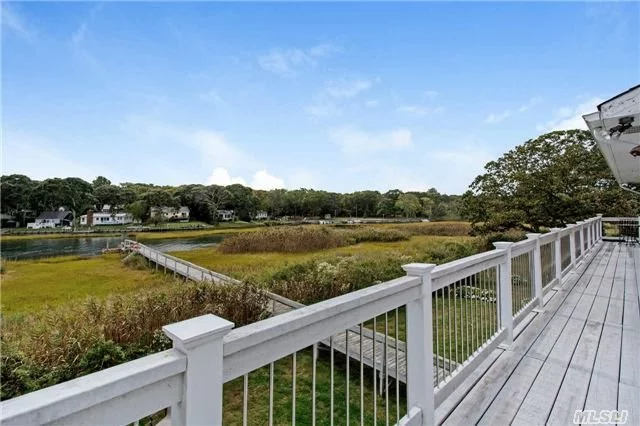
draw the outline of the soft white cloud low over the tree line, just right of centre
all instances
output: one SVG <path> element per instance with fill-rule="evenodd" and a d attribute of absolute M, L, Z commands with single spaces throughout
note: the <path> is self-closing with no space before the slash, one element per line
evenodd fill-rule
<path fill-rule="evenodd" d="M 329 139 L 347 155 L 374 153 L 382 150 L 402 150 L 413 145 L 413 135 L 405 128 L 379 134 L 344 126 L 329 132 Z"/>

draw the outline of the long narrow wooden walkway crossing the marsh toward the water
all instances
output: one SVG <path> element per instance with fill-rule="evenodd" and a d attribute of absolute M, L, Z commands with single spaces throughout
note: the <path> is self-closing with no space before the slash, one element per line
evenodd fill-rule
<path fill-rule="evenodd" d="M 231 277 L 227 277 L 218 272 L 210 271 L 201 266 L 192 264 L 187 261 L 183 261 L 174 256 L 162 253 L 158 250 L 152 249 L 143 244 L 128 242 L 124 244 L 127 250 L 134 250 L 141 256 L 149 259 L 155 263 L 156 269 L 164 268 L 167 271 L 171 271 L 177 275 L 194 281 L 212 281 L 212 282 L 232 282 L 239 283 Z M 267 295 L 271 299 L 270 306 L 268 307 L 271 315 L 280 315 L 285 312 L 299 309 L 305 305 L 287 299 L 286 297 L 267 292 Z M 374 334 L 376 336 L 374 342 Z M 348 341 L 348 343 L 347 343 Z M 346 355 L 347 352 L 352 360 L 362 362 L 369 368 L 374 368 L 377 372 L 381 386 L 378 389 L 383 390 L 382 383 L 386 381 L 385 376 L 389 375 L 389 382 L 391 379 L 397 378 L 400 382 L 406 383 L 407 381 L 407 361 L 406 361 L 406 346 L 403 341 L 397 341 L 391 336 L 386 336 L 384 333 L 374 333 L 373 330 L 363 327 L 362 336 L 360 334 L 360 328 L 358 326 L 345 330 L 342 333 L 333 336 L 333 342 L 329 339 L 325 339 L 321 342 L 327 348 L 333 344 L 333 349 L 336 352 L 340 352 Z M 362 345 L 362 357 L 360 356 Z M 440 365 L 447 364 L 448 370 L 453 370 L 455 366 L 448 366 L 448 360 L 441 360 Z M 435 367 L 435 365 L 434 365 Z M 437 367 L 434 368 L 434 385 L 438 384 Z"/>

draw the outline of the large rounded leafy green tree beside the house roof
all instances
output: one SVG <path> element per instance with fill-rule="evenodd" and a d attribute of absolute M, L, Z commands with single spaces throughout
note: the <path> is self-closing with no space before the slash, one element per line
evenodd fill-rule
<path fill-rule="evenodd" d="M 556 131 L 526 141 L 485 166 L 463 196 L 463 215 L 480 231 L 564 226 L 626 205 L 635 214 L 591 133 Z"/>

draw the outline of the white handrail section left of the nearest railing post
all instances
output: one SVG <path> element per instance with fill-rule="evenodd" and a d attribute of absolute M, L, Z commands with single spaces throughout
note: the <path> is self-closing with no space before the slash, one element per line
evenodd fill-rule
<path fill-rule="evenodd" d="M 88 408 L 108 402 L 145 386 L 153 385 L 187 369 L 183 354 L 175 349 L 146 356 L 134 361 L 79 377 L 68 382 L 31 392 L 0 402 L 0 415 L 4 424 L 45 424 L 65 419 Z M 181 391 L 169 398 L 179 402 Z M 179 396 L 177 399 L 176 396 Z M 175 401 L 173 401 L 175 400 Z M 156 408 L 165 408 L 162 401 Z M 142 408 L 142 407 L 141 407 Z M 133 422 L 148 413 L 129 414 Z"/>

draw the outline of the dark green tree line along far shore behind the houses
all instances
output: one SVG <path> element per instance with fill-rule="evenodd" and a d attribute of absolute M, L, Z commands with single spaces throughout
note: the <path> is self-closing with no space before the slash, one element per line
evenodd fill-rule
<path fill-rule="evenodd" d="M 238 219 L 249 221 L 258 211 L 270 217 L 424 217 L 430 220 L 459 219 L 458 195 L 403 192 L 393 189 L 337 193 L 314 189 L 274 189 L 270 191 L 233 184 L 159 186 L 125 182 L 113 184 L 104 176 L 93 182 L 77 177 L 51 178 L 42 181 L 25 175 L 0 177 L 1 210 L 19 220 L 26 212 L 39 214 L 64 206 L 74 217 L 104 204 L 119 206 L 135 219 L 147 221 L 154 207 L 187 206 L 194 220 L 216 223 L 218 210 L 233 210 Z"/>

